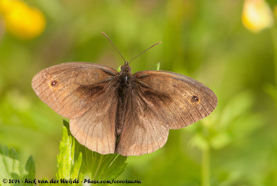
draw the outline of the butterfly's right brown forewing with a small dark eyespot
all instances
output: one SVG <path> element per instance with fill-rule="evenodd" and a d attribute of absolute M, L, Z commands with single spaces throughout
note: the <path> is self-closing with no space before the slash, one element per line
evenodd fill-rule
<path fill-rule="evenodd" d="M 134 74 L 141 96 L 148 106 L 166 116 L 168 128 L 193 124 L 213 112 L 217 106 L 215 93 L 193 78 L 170 71 L 139 71 Z"/>

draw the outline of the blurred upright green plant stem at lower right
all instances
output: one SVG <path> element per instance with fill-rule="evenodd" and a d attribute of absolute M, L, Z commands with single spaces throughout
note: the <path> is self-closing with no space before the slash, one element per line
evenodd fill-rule
<path fill-rule="evenodd" d="M 210 146 L 202 152 L 202 186 L 210 186 Z"/>

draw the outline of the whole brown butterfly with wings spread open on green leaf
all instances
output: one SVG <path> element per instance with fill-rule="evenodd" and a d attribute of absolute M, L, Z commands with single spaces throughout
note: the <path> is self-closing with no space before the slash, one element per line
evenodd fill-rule
<path fill-rule="evenodd" d="M 80 144 L 101 154 L 152 153 L 166 144 L 170 129 L 193 124 L 217 106 L 215 93 L 193 78 L 159 70 L 132 74 L 124 61 L 119 72 L 89 62 L 55 65 L 35 75 L 33 90 L 70 119 Z"/>

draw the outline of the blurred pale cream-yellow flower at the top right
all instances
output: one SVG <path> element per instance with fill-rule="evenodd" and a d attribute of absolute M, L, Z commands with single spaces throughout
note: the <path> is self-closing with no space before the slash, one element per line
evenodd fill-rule
<path fill-rule="evenodd" d="M 245 0 L 242 10 L 242 23 L 255 33 L 274 24 L 269 5 L 264 0 Z"/>

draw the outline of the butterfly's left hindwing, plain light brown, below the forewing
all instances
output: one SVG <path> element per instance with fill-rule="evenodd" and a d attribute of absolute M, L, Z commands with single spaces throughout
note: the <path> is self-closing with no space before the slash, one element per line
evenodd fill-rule
<path fill-rule="evenodd" d="M 78 142 L 91 151 L 114 153 L 116 147 L 115 121 L 117 94 L 110 83 L 100 99 L 81 117 L 70 119 L 70 130 Z"/>

